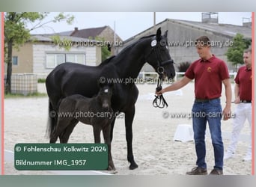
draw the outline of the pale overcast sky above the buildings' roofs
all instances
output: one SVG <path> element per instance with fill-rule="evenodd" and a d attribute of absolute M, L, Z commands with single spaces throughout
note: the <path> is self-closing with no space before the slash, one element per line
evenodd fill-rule
<path fill-rule="evenodd" d="M 50 13 L 45 21 L 52 19 L 58 13 Z M 95 28 L 109 25 L 122 40 L 140 33 L 153 26 L 153 12 L 68 12 L 75 17 L 72 25 L 66 22 L 51 23 L 31 34 L 51 34 L 60 31 L 73 31 L 75 27 Z M 156 12 L 156 24 L 168 19 L 182 19 L 201 22 L 201 12 Z M 219 12 L 219 23 L 243 25 L 252 20 L 251 12 Z M 28 28 L 31 25 L 28 25 Z"/>

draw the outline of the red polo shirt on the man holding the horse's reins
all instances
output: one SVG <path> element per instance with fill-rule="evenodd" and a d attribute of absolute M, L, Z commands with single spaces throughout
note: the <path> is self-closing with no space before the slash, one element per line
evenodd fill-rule
<path fill-rule="evenodd" d="M 222 96 L 222 81 L 229 79 L 228 67 L 214 55 L 207 61 L 194 61 L 185 76 L 195 79 L 195 98 L 214 99 Z"/>

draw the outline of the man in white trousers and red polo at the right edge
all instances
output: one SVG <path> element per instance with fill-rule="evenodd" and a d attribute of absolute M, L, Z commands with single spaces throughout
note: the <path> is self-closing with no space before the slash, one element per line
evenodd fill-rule
<path fill-rule="evenodd" d="M 246 119 L 249 122 L 250 129 L 252 126 L 252 49 L 247 49 L 243 52 L 243 61 L 245 66 L 240 67 L 235 78 L 234 102 L 237 104 L 235 111 L 236 116 L 232 122 L 233 130 L 231 134 L 231 143 L 228 146 L 224 159 L 234 157 L 234 153 L 237 149 L 237 141 Z M 243 161 L 250 160 L 252 160 L 252 141 L 250 141 L 247 154 L 243 158 Z"/>

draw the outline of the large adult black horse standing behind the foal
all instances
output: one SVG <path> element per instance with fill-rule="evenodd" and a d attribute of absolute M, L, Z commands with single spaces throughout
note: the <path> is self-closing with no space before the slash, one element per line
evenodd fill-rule
<path fill-rule="evenodd" d="M 106 67 L 111 67 L 112 77 L 110 81 L 117 81 L 114 86 L 112 96 L 112 109 L 114 113 L 124 112 L 126 139 L 127 139 L 127 159 L 130 162 L 129 169 L 138 168 L 132 153 L 132 121 L 135 114 L 135 102 L 138 97 L 138 88 L 132 79 L 138 77 L 143 65 L 147 62 L 158 73 L 163 73 L 168 79 L 175 76 L 174 64 L 168 52 L 167 31 L 161 35 L 161 28 L 156 31 L 156 35 L 142 37 L 135 43 L 127 46 L 118 55 L 103 61 L 97 67 L 85 66 L 81 64 L 64 63 L 55 67 L 46 78 L 46 89 L 49 96 L 49 114 L 57 111 L 59 99 L 73 94 L 83 96 L 94 96 L 99 91 L 97 81 L 108 81 L 105 79 L 103 71 Z M 118 79 L 118 80 L 117 80 Z M 129 79 L 129 82 L 126 80 Z M 51 115 L 49 119 L 49 133 L 56 126 L 57 117 Z M 113 138 L 113 128 L 115 118 L 112 121 L 111 140 Z"/>

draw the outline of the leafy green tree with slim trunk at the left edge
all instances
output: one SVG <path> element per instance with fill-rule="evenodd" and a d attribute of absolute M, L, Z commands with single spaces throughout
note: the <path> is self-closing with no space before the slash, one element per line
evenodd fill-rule
<path fill-rule="evenodd" d="M 30 39 L 30 31 L 41 28 L 49 22 L 61 22 L 66 20 L 67 23 L 73 22 L 74 17 L 59 13 L 53 19 L 43 22 L 49 13 L 40 12 L 7 12 L 4 13 L 4 57 L 7 63 L 7 79 L 5 84 L 5 93 L 10 93 L 10 83 L 12 74 L 12 54 L 13 47 L 19 48 Z M 35 22 L 37 21 L 37 24 Z M 28 28 L 28 24 L 35 24 Z"/>

